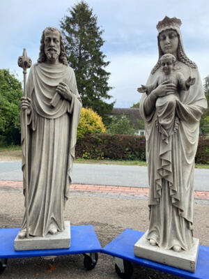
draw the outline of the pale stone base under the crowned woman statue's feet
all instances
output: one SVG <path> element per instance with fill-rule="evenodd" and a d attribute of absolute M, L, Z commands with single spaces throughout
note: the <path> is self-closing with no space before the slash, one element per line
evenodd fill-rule
<path fill-rule="evenodd" d="M 172 249 L 165 250 L 159 246 L 151 246 L 148 239 L 146 239 L 147 234 L 148 231 L 134 245 L 134 255 L 136 257 L 174 266 L 177 269 L 195 272 L 199 252 L 199 239 L 193 239 L 194 246 L 189 251 L 181 250 L 180 252 L 175 252 Z"/>

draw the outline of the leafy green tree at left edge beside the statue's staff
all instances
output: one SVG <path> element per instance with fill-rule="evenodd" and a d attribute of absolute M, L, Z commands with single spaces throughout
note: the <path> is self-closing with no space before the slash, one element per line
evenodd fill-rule
<path fill-rule="evenodd" d="M 8 69 L 0 70 L 0 135 L 6 144 L 20 144 L 22 84 Z"/>

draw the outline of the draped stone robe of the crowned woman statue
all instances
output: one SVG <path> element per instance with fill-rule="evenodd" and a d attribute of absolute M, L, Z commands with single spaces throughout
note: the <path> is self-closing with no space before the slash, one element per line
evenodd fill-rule
<path fill-rule="evenodd" d="M 199 121 L 207 107 L 198 70 L 177 61 L 184 77 L 195 77 L 188 91 L 175 98 L 173 128 L 164 140 L 157 109 L 144 112 L 146 93 L 140 100 L 140 114 L 146 128 L 146 158 L 150 186 L 150 227 L 148 239 L 161 248 L 178 245 L 189 250 L 193 244 L 194 156 L 199 141 Z M 151 74 L 147 84 L 155 83 L 160 68 Z M 167 117 L 171 115 L 168 114 Z M 167 119 L 170 121 L 170 119 Z M 166 122 L 166 115 L 164 115 Z"/>

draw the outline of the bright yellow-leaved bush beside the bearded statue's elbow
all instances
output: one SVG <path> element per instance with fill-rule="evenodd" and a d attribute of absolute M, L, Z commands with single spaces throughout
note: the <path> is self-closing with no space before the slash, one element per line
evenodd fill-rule
<path fill-rule="evenodd" d="M 77 128 L 77 139 L 87 134 L 105 133 L 102 118 L 93 110 L 82 107 L 79 126 Z"/>

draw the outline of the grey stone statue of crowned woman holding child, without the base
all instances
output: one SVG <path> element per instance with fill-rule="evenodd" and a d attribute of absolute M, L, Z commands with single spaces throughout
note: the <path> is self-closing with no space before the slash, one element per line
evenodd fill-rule
<path fill-rule="evenodd" d="M 150 246 L 176 252 L 193 246 L 194 156 L 207 107 L 196 64 L 183 49 L 180 24 L 176 17 L 157 24 L 159 59 L 139 89 L 146 92 L 139 108 L 150 186 L 146 237 Z"/>

